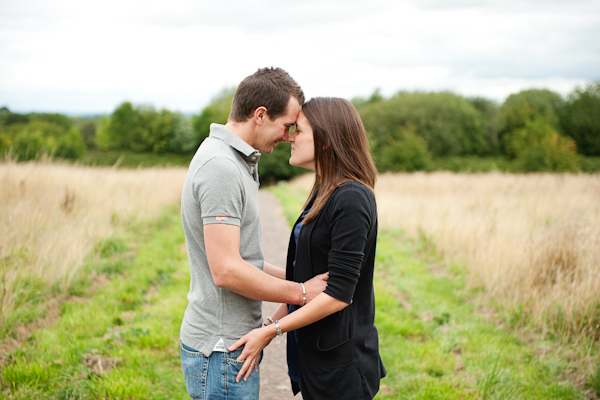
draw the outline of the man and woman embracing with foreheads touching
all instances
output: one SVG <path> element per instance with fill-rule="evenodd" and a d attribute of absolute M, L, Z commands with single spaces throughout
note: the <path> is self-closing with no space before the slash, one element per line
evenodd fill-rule
<path fill-rule="evenodd" d="M 315 172 L 285 269 L 264 260 L 258 213 L 258 161 L 280 141 L 292 145 L 291 165 Z M 227 123 L 211 125 L 182 193 L 191 282 L 181 363 L 191 398 L 258 399 L 262 350 L 284 333 L 294 394 L 375 396 L 386 373 L 374 325 L 375 177 L 350 102 L 305 103 L 280 68 L 240 83 Z M 282 304 L 263 321 L 262 301 Z"/>

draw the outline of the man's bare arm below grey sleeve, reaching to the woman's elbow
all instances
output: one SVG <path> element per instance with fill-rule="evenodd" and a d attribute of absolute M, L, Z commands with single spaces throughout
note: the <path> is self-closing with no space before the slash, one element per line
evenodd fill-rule
<path fill-rule="evenodd" d="M 206 257 L 215 285 L 242 296 L 263 301 L 302 304 L 327 287 L 327 274 L 304 283 L 306 295 L 297 282 L 275 278 L 244 261 L 240 255 L 240 227 L 228 224 L 204 225 Z"/>

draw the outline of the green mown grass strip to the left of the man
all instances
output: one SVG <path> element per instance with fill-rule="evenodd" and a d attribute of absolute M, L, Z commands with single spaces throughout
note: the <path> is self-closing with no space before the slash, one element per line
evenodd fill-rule
<path fill-rule="evenodd" d="M 106 240 L 104 257 L 84 273 L 89 281 L 100 271 L 108 283 L 91 298 L 66 302 L 54 326 L 34 331 L 8 355 L 1 397 L 185 399 L 178 353 L 189 289 L 183 245 L 178 207 Z"/>

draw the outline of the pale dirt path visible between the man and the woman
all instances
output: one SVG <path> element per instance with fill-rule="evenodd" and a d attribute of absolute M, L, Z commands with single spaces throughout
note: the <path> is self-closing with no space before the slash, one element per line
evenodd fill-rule
<path fill-rule="evenodd" d="M 285 268 L 290 228 L 282 214 L 279 201 L 273 194 L 261 190 L 258 194 L 258 201 L 260 204 L 265 260 L 273 265 Z M 275 303 L 264 302 L 263 317 L 271 315 L 277 306 Z M 273 339 L 265 349 L 260 364 L 261 400 L 302 399 L 301 394 L 294 397 L 290 388 L 285 356 L 285 336 Z"/>

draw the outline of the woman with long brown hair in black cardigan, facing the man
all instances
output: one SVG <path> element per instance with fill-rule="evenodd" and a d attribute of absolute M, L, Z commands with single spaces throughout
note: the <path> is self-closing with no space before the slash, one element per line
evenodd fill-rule
<path fill-rule="evenodd" d="M 344 99 L 313 98 L 290 135 L 290 164 L 315 171 L 304 212 L 292 230 L 286 279 L 329 272 L 326 290 L 304 306 L 280 306 L 269 323 L 245 335 L 237 377 L 256 369 L 260 352 L 288 333 L 292 387 L 311 399 L 372 399 L 386 374 L 374 325 L 376 170 L 364 127 Z"/>

